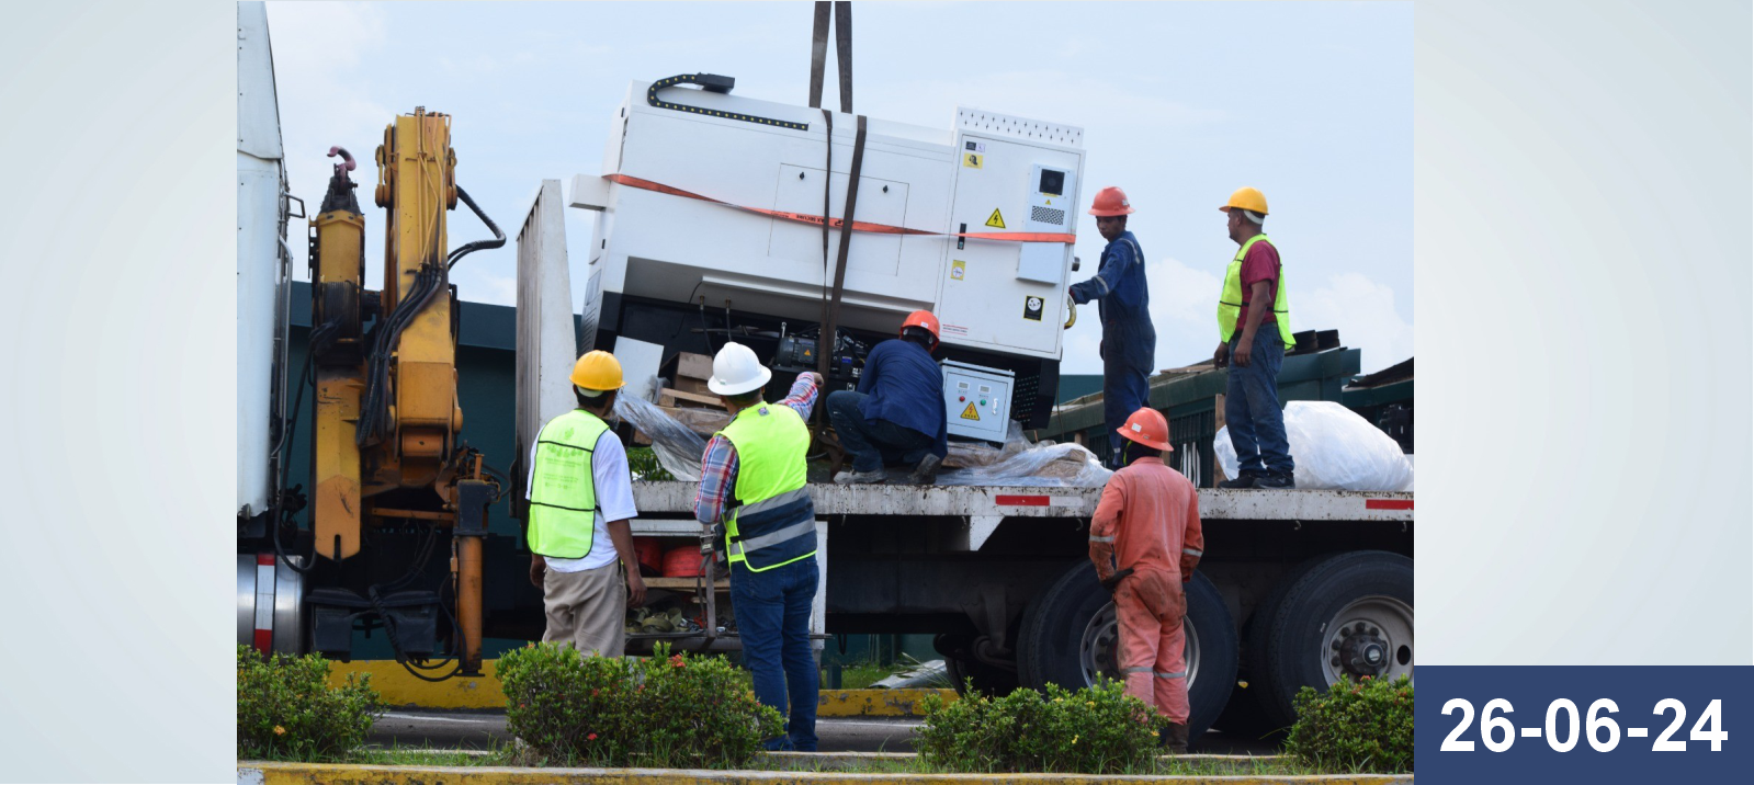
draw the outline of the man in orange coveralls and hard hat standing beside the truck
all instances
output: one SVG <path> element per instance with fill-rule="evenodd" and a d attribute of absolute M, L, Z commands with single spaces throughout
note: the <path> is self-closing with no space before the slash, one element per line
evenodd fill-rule
<path fill-rule="evenodd" d="M 1182 661 L 1182 583 L 1193 580 L 1205 536 L 1194 485 L 1163 464 L 1170 424 L 1140 408 L 1117 429 L 1121 471 L 1109 478 L 1091 520 L 1096 578 L 1114 594 L 1121 624 L 1121 673 L 1126 694 L 1158 706 L 1170 720 L 1163 743 L 1187 752 L 1187 664 Z"/>

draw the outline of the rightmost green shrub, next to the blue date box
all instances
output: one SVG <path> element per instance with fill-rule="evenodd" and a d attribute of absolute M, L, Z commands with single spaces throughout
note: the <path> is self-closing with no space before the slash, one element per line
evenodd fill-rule
<path fill-rule="evenodd" d="M 1286 752 L 1308 764 L 1342 771 L 1414 769 L 1414 683 L 1365 676 L 1340 678 L 1328 692 L 1298 690 L 1298 722 Z"/>

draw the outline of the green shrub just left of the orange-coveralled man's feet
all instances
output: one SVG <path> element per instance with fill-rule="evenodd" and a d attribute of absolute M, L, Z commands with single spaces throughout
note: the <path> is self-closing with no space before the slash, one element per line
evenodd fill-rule
<path fill-rule="evenodd" d="M 921 762 L 963 773 L 1149 773 L 1161 752 L 1158 731 L 1168 724 L 1112 680 L 1077 692 L 1047 685 L 1045 696 L 1019 689 L 988 697 L 970 689 L 949 704 L 928 696 L 923 708 L 926 720 L 914 731 Z"/>

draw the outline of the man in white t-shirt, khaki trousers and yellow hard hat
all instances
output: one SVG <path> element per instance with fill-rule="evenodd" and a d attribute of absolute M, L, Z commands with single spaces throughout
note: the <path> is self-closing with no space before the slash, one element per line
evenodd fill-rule
<path fill-rule="evenodd" d="M 638 515 L 633 477 L 605 422 L 623 385 L 621 363 L 589 352 L 574 364 L 572 384 L 579 408 L 549 421 L 530 445 L 530 582 L 542 587 L 544 641 L 621 657 L 628 603 L 645 603 L 628 526 Z"/>

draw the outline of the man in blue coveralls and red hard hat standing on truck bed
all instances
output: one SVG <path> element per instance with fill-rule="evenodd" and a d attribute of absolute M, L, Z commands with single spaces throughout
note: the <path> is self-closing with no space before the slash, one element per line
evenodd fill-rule
<path fill-rule="evenodd" d="M 1072 284 L 1072 301 L 1096 300 L 1102 315 L 1102 414 L 1105 433 L 1117 433 L 1126 419 L 1147 405 L 1145 380 L 1158 356 L 1158 331 L 1151 326 L 1151 294 L 1145 291 L 1145 254 L 1126 231 L 1133 205 L 1126 193 L 1109 186 L 1096 193 L 1091 216 L 1109 245 L 1102 249 L 1096 277 Z M 1109 438 L 1109 468 L 1119 470 L 1121 440 Z"/>

